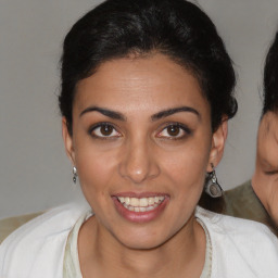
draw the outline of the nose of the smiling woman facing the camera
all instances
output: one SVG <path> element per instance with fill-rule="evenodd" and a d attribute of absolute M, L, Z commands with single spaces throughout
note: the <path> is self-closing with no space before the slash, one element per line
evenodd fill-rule
<path fill-rule="evenodd" d="M 119 175 L 140 185 L 160 175 L 155 153 L 148 140 L 132 140 L 122 153 Z"/>

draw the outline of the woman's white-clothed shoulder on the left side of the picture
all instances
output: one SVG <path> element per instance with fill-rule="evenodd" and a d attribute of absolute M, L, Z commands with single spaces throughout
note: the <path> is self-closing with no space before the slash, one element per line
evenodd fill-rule
<path fill-rule="evenodd" d="M 36 277 L 45 269 L 41 277 L 53 277 L 61 270 L 67 236 L 86 211 L 80 203 L 63 205 L 12 232 L 0 245 L 0 277 Z"/>

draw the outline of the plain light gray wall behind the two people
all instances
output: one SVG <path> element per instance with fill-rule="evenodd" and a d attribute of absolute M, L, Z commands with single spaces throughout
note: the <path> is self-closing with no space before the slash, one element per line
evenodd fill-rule
<path fill-rule="evenodd" d="M 79 194 L 64 154 L 56 104 L 61 46 L 72 24 L 101 1 L 0 2 L 0 217 Z M 217 167 L 224 189 L 251 177 L 264 56 L 278 26 L 277 0 L 200 0 L 238 72 L 239 112 Z"/>

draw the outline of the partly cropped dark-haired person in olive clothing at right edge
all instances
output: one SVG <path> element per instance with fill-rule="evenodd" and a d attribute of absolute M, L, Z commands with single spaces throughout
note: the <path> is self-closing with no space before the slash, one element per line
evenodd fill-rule
<path fill-rule="evenodd" d="M 225 214 L 264 223 L 278 236 L 278 31 L 265 61 L 255 172 L 225 200 Z"/>

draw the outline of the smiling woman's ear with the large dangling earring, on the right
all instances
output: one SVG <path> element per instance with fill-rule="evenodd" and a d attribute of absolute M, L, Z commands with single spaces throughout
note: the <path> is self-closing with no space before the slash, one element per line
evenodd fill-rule
<path fill-rule="evenodd" d="M 223 118 L 222 124 L 212 137 L 212 148 L 210 153 L 210 160 L 206 170 L 212 172 L 213 167 L 216 167 L 222 160 L 224 153 L 225 142 L 228 136 L 228 119 Z"/>

